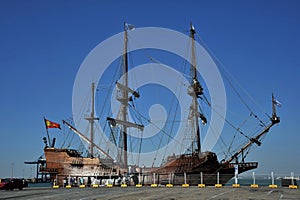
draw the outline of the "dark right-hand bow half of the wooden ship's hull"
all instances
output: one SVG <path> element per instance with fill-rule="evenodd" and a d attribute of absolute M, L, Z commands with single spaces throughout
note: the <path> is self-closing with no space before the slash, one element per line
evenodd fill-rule
<path fill-rule="evenodd" d="M 158 184 L 181 185 L 214 185 L 226 184 L 235 176 L 235 173 L 243 173 L 248 170 L 256 169 L 257 162 L 244 163 L 219 163 L 217 156 L 213 152 L 205 152 L 201 155 L 179 155 L 171 156 L 168 162 L 162 167 L 143 170 L 148 174 L 147 180 L 142 180 L 143 184 L 154 182 L 153 174 L 155 173 Z M 218 180 L 219 179 L 219 180 Z"/>

